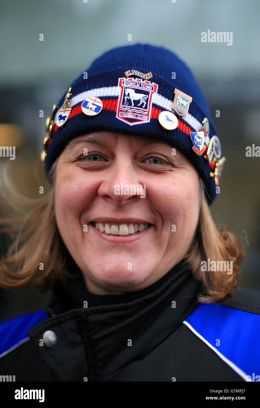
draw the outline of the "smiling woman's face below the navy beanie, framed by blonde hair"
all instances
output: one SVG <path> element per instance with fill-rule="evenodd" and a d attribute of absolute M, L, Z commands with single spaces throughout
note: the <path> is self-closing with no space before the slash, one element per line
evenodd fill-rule
<path fill-rule="evenodd" d="M 56 221 L 92 293 L 146 288 L 186 255 L 199 218 L 199 175 L 172 153 L 167 143 L 107 131 L 76 137 L 61 153 Z M 130 235 L 101 232 L 94 222 Z M 130 233 L 142 223 L 148 228 Z"/>

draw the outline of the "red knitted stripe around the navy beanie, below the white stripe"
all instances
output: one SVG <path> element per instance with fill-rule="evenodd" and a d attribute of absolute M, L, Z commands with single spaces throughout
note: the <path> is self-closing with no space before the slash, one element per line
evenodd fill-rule
<path fill-rule="evenodd" d="M 118 99 L 101 99 L 101 101 L 103 103 L 103 109 L 107 109 L 108 111 L 112 111 L 112 112 L 117 111 Z M 75 106 L 74 108 L 72 108 L 72 110 L 69 113 L 69 118 L 67 120 L 73 118 L 73 116 L 76 116 L 76 115 L 79 115 L 80 113 L 82 113 L 81 105 L 82 105 L 82 103 Z M 158 119 L 159 113 L 161 113 L 161 112 L 163 112 L 163 110 L 152 107 L 151 119 Z M 177 127 L 181 131 L 186 133 L 186 135 L 188 135 L 188 136 L 190 136 L 190 133 L 193 132 L 193 130 L 191 128 L 189 128 L 185 123 L 181 122 L 180 120 L 178 120 L 178 126 Z M 58 126 L 56 124 L 54 124 L 52 126 L 52 135 L 55 134 L 57 129 L 58 129 Z"/>

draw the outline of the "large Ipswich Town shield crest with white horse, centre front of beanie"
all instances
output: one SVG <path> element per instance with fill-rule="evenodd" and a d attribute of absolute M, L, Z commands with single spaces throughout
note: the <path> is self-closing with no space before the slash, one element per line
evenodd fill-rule
<path fill-rule="evenodd" d="M 119 78 L 120 95 L 116 118 L 130 126 L 150 122 L 152 95 L 157 93 L 154 82 L 137 78 Z"/>

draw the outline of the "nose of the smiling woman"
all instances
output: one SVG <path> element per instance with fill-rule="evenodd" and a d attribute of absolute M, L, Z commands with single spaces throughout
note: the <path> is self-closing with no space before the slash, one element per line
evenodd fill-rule
<path fill-rule="evenodd" d="M 110 170 L 107 179 L 99 186 L 100 197 L 118 206 L 145 197 L 145 186 L 139 182 L 138 172 L 130 157 L 123 155 L 117 158 Z"/>

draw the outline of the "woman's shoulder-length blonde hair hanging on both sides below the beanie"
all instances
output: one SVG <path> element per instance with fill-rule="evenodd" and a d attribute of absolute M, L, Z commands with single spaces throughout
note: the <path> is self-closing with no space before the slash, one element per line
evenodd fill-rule
<path fill-rule="evenodd" d="M 38 199 L 19 193 L 4 172 L 2 191 L 8 191 L 4 199 L 16 215 L 0 217 L 0 233 L 8 233 L 13 239 L 6 256 L 0 260 L 0 286 L 3 288 L 37 287 L 44 292 L 57 279 L 66 283 L 70 276 L 66 262 L 70 254 L 58 231 L 54 211 L 57 160 L 49 173 L 49 191 Z M 194 278 L 203 284 L 204 293 L 198 300 L 220 303 L 225 297 L 235 294 L 244 251 L 238 236 L 227 228 L 217 228 L 202 181 L 201 188 L 197 231 L 184 260 L 191 267 Z M 225 271 L 203 272 L 202 261 L 207 259 L 232 261 L 232 274 L 228 275 Z M 40 264 L 44 265 L 43 270 L 39 268 Z"/>

